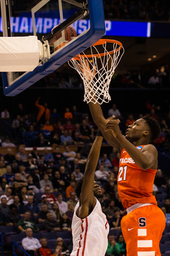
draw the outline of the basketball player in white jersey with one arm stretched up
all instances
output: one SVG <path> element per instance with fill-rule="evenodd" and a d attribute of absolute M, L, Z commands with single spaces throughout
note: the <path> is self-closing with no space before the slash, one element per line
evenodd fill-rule
<path fill-rule="evenodd" d="M 101 135 L 102 136 L 102 135 Z M 87 158 L 84 178 L 75 187 L 79 202 L 72 221 L 73 251 L 70 256 L 104 256 L 108 246 L 109 224 L 101 210 L 103 193 L 94 180 L 103 138 L 96 136 Z"/>

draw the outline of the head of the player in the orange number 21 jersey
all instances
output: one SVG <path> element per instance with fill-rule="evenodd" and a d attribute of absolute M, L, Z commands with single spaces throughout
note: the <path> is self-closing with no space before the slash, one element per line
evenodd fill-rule
<path fill-rule="evenodd" d="M 145 115 L 129 125 L 126 131 L 126 139 L 130 142 L 146 139 L 147 143 L 155 141 L 160 135 L 159 123 L 149 115 Z"/>

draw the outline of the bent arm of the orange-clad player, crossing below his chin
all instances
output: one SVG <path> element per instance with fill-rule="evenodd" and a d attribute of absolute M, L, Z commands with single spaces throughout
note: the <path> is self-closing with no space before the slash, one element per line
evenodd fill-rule
<path fill-rule="evenodd" d="M 117 138 L 119 143 L 128 152 L 134 162 L 142 168 L 147 170 L 148 168 L 157 168 L 158 151 L 152 144 L 148 144 L 139 151 L 133 144 L 131 144 L 124 135 L 121 134 L 118 124 L 114 121 L 109 121 L 106 125 L 107 130 L 112 130 L 113 136 Z"/>

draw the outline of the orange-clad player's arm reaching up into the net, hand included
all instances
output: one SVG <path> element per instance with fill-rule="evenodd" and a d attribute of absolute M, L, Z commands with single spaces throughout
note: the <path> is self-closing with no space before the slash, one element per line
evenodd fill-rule
<path fill-rule="evenodd" d="M 93 74 L 93 76 L 89 75 L 89 73 L 91 71 L 90 70 L 90 66 L 89 66 L 88 61 L 87 60 L 85 60 L 85 61 L 86 61 L 86 68 L 83 69 L 82 68 L 83 65 L 79 65 L 79 69 L 87 77 L 93 77 L 95 74 Z M 86 69 L 88 71 L 86 71 Z M 93 97 L 96 100 L 96 97 L 95 96 L 93 96 Z M 112 132 L 111 131 L 107 131 L 107 133 L 104 132 L 105 125 L 107 124 L 108 120 L 104 118 L 100 104 L 99 103 L 94 104 L 93 102 L 89 102 L 88 106 L 90 108 L 90 112 L 91 112 L 92 118 L 93 118 L 94 122 L 96 123 L 96 125 L 99 127 L 99 129 L 100 129 L 101 133 L 103 134 L 104 138 L 107 140 L 107 142 L 109 144 L 111 144 L 111 146 L 115 147 L 120 152 L 120 143 L 117 141 L 117 139 L 115 137 L 113 137 Z M 114 117 L 111 117 L 109 119 L 113 119 L 113 118 Z"/>

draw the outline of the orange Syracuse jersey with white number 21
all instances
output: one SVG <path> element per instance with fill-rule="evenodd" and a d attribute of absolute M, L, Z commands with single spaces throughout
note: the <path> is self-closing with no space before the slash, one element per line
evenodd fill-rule
<path fill-rule="evenodd" d="M 144 146 L 137 146 L 137 148 L 142 150 Z M 121 151 L 117 184 L 118 193 L 125 209 L 137 203 L 157 205 L 155 196 L 152 195 L 156 171 L 151 168 L 142 170 L 125 149 Z"/>

